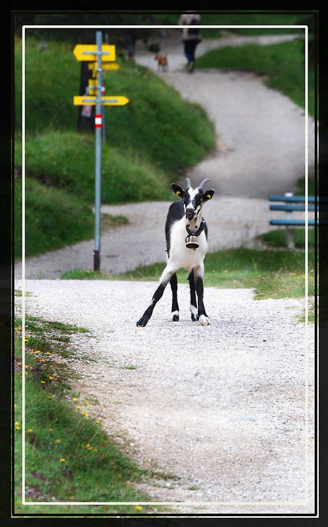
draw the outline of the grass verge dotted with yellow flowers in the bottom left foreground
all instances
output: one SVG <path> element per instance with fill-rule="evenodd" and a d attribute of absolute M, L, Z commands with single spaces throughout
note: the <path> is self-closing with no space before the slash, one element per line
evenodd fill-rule
<path fill-rule="evenodd" d="M 133 482 L 173 479 L 174 474 L 141 470 L 121 454 L 102 429 L 96 401 L 75 393 L 73 372 L 61 357 L 72 358 L 69 337 L 85 328 L 26 318 L 25 373 L 22 372 L 22 320 L 15 319 L 15 512 L 72 512 L 71 505 L 21 503 L 22 375 L 25 375 L 25 491 L 27 502 L 150 501 Z M 74 355 L 73 355 L 74 357 Z M 81 360 L 81 357 L 79 357 Z M 133 369 L 133 367 L 130 367 Z M 91 411 L 90 411 L 91 407 Z M 79 506 L 81 513 L 147 514 L 150 506 Z"/>

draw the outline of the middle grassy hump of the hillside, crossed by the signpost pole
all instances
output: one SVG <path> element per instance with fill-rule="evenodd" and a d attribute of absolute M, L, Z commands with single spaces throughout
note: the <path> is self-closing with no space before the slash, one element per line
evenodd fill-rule
<path fill-rule="evenodd" d="M 22 159 L 22 143 L 15 144 L 17 160 Z M 18 165 L 19 166 L 19 165 Z M 52 131 L 29 136 L 25 142 L 25 170 L 29 178 L 45 187 L 65 190 L 70 196 L 94 202 L 95 141 L 77 132 Z M 126 149 L 105 143 L 102 147 L 102 202 L 127 203 L 170 199 L 162 170 Z M 156 194 L 157 193 L 157 194 Z"/>

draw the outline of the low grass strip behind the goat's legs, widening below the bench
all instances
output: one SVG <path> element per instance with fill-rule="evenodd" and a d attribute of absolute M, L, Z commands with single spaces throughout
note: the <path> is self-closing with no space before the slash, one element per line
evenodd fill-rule
<path fill-rule="evenodd" d="M 207 253 L 204 285 L 221 289 L 255 290 L 255 299 L 301 298 L 305 294 L 304 251 L 230 249 Z M 72 269 L 62 279 L 158 280 L 165 262 L 140 267 L 119 275 Z M 188 272 L 180 269 L 177 279 L 187 283 Z M 314 256 L 309 252 L 309 295 L 314 295 Z"/>

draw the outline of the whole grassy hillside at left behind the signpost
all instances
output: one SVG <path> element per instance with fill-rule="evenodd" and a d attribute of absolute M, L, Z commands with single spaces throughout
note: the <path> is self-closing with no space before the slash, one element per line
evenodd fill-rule
<path fill-rule="evenodd" d="M 94 132 L 78 134 L 81 63 L 67 43 L 33 39 L 25 50 L 26 256 L 93 237 Z M 107 72 L 108 95 L 125 95 L 126 106 L 106 106 L 102 147 L 102 202 L 170 200 L 170 183 L 214 147 L 205 111 L 185 102 L 157 75 L 118 58 Z M 22 42 L 15 44 L 15 255 L 22 229 Z M 43 202 L 44 200 L 44 202 Z M 67 227 L 69 226 L 69 228 Z"/>

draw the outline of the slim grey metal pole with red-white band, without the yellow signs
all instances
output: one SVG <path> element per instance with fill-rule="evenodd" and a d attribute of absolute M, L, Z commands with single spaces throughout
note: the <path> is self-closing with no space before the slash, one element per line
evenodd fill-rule
<path fill-rule="evenodd" d="M 102 32 L 96 32 L 97 45 L 97 94 L 95 112 L 95 135 L 96 135 L 96 170 L 95 170 L 95 249 L 93 253 L 93 270 L 99 271 L 101 264 L 100 252 L 100 206 L 101 206 L 101 155 L 102 155 L 102 100 L 101 86 L 103 83 L 102 75 Z"/>

